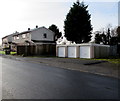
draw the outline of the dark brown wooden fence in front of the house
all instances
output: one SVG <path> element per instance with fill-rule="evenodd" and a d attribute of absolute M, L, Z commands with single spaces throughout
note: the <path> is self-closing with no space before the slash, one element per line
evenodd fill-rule
<path fill-rule="evenodd" d="M 55 53 L 56 45 L 54 44 L 17 46 L 17 55 L 55 55 Z"/>

